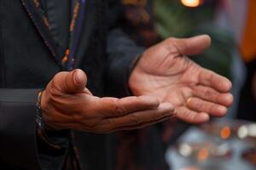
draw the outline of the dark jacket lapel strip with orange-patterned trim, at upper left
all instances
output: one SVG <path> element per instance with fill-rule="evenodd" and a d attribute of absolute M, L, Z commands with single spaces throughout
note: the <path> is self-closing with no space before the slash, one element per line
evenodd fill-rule
<path fill-rule="evenodd" d="M 36 26 L 40 36 L 44 39 L 44 43 L 47 48 L 49 48 L 50 53 L 55 58 L 55 61 L 61 65 L 61 59 L 57 59 L 57 46 L 55 41 L 52 39 L 49 32 L 49 28 L 45 26 L 43 18 L 38 14 L 38 10 L 35 5 L 32 3 L 32 0 L 20 0 L 24 8 L 26 9 L 27 14 L 34 26 Z"/>

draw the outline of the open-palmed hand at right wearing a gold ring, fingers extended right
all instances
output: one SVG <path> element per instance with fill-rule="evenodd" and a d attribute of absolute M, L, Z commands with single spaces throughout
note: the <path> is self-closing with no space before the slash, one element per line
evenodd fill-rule
<path fill-rule="evenodd" d="M 232 83 L 195 64 L 187 55 L 201 54 L 211 38 L 168 38 L 148 48 L 129 79 L 135 95 L 154 95 L 176 107 L 177 118 L 190 123 L 224 116 L 233 102 Z"/>

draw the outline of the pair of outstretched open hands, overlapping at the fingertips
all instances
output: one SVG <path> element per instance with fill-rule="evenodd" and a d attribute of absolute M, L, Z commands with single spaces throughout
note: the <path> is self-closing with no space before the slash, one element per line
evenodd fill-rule
<path fill-rule="evenodd" d="M 86 88 L 84 71 L 60 72 L 42 94 L 44 122 L 55 130 L 110 133 L 146 127 L 172 116 L 190 123 L 224 116 L 233 102 L 231 82 L 187 56 L 201 54 L 210 43 L 211 38 L 203 35 L 168 38 L 148 48 L 129 79 L 133 97 L 96 97 Z"/>

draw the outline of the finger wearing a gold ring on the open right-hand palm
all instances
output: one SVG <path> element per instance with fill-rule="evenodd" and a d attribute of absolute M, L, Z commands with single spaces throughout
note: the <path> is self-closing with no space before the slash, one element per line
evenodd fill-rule
<path fill-rule="evenodd" d="M 217 105 L 199 98 L 190 98 L 187 106 L 193 111 L 205 112 L 211 116 L 224 116 L 228 111 L 223 105 Z"/>

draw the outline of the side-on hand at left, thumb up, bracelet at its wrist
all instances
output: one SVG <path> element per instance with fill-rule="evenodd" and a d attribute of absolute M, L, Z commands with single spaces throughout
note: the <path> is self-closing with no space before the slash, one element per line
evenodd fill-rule
<path fill-rule="evenodd" d="M 49 82 L 41 99 L 46 127 L 90 133 L 110 133 L 162 122 L 173 116 L 170 103 L 151 96 L 99 98 L 85 88 L 84 71 L 60 72 Z"/>

